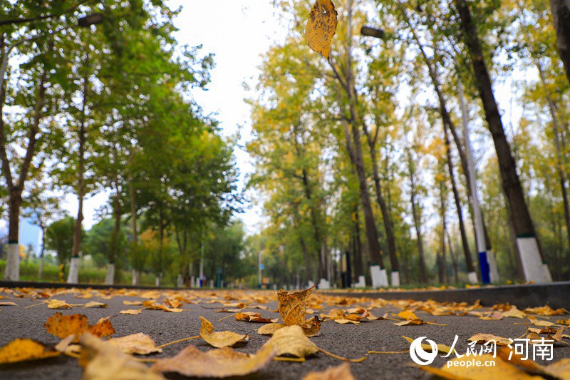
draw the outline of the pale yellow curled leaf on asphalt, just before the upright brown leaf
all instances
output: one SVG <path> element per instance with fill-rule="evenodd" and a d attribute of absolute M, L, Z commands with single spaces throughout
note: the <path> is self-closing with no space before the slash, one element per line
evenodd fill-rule
<path fill-rule="evenodd" d="M 273 333 L 273 337 L 265 342 L 264 345 L 273 347 L 278 356 L 289 354 L 304 358 L 318 351 L 316 344 L 305 336 L 303 329 L 299 326 L 287 326 L 277 329 Z"/>

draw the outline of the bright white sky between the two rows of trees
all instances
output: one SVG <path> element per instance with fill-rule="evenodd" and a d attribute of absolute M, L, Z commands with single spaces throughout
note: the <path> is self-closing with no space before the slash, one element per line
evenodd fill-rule
<path fill-rule="evenodd" d="M 242 87 L 247 81 L 254 85 L 261 64 L 261 54 L 271 43 L 280 41 L 286 30 L 280 26 L 274 15 L 271 0 L 172 0 L 172 9 L 182 6 L 182 12 L 175 20 L 180 31 L 175 35 L 181 44 L 203 45 L 204 53 L 214 53 L 216 67 L 212 70 L 212 82 L 207 91 L 193 93 L 204 113 L 214 114 L 221 123 L 224 135 L 239 131 L 240 144 L 235 152 L 240 171 L 240 188 L 253 166 L 243 145 L 251 135 L 249 106 L 243 99 L 248 96 Z M 251 195 L 250 195 L 251 196 Z M 84 227 L 89 229 L 98 217 L 96 210 L 108 200 L 108 193 L 88 198 L 84 203 Z M 71 215 L 77 213 L 76 195 L 66 197 L 66 208 Z M 248 210 L 240 215 L 248 232 L 259 229 L 261 209 L 248 202 Z"/>

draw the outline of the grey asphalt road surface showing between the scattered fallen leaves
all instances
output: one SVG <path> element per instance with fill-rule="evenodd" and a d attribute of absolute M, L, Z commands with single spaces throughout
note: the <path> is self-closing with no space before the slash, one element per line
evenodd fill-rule
<path fill-rule="evenodd" d="M 238 300 L 227 301 L 224 299 L 227 294 L 237 295 L 237 298 L 246 302 L 251 302 L 249 298 L 252 293 L 247 292 L 222 292 L 207 291 L 202 292 L 185 292 L 170 291 L 170 294 L 193 295 L 201 300 L 198 304 L 184 304 L 182 309 L 184 312 L 170 313 L 159 310 L 145 309 L 138 315 L 120 314 L 121 310 L 137 309 L 140 306 L 128 306 L 123 301 L 140 301 L 144 298 L 137 296 L 114 295 L 110 299 L 100 297 L 104 295 L 100 290 L 94 290 L 94 297 L 91 299 L 77 298 L 77 294 L 85 292 L 84 289 L 77 289 L 68 294 L 58 294 L 52 298 L 63 299 L 70 304 L 85 304 L 90 301 L 104 302 L 109 306 L 104 309 L 84 308 L 81 306 L 73 307 L 73 309 L 54 310 L 48 309 L 46 304 L 39 304 L 45 299 L 30 298 L 14 298 L 14 294 L 6 292 L 6 289 L 0 288 L 0 302 L 15 302 L 16 307 L 0 307 L 0 346 L 11 342 L 16 338 L 30 338 L 38 342 L 53 346 L 60 339 L 46 332 L 44 324 L 48 317 L 56 312 L 63 314 L 85 314 L 90 324 L 95 324 L 101 317 L 109 317 L 115 328 L 113 337 L 123 337 L 129 334 L 144 332 L 150 335 L 157 345 L 175 341 L 185 337 L 191 337 L 199 334 L 200 319 L 199 316 L 209 319 L 214 324 L 214 331 L 230 330 L 240 334 L 248 334 L 250 339 L 247 344 L 239 346 L 238 351 L 254 353 L 259 347 L 266 342 L 269 337 L 261 336 L 254 331 L 262 324 L 251 322 L 240 322 L 234 317 L 228 317 L 222 322 L 218 320 L 229 314 L 214 312 L 215 308 L 222 308 L 220 303 L 206 303 L 212 299 L 219 299 L 223 302 L 238 302 Z M 131 291 L 130 291 L 131 292 Z M 162 293 L 164 294 L 164 293 Z M 279 313 L 273 312 L 276 309 L 276 292 L 266 291 L 258 292 L 269 297 L 271 300 L 265 305 L 270 310 L 260 309 L 244 309 L 244 311 L 259 312 L 262 317 L 279 317 Z M 325 299 L 318 292 L 314 296 L 316 299 Z M 14 299 L 12 299 L 14 298 Z M 347 308 L 353 305 L 334 305 L 335 302 L 342 302 L 342 297 L 331 298 L 326 296 L 328 305 L 318 313 L 333 308 Z M 367 302 L 362 299 L 346 299 L 355 302 L 361 306 L 367 306 Z M 516 304 L 516 302 L 513 302 Z M 28 307 L 38 304 L 33 307 Z M 25 308 L 28 307 L 28 308 Z M 388 304 L 384 307 L 373 309 L 372 312 L 376 316 L 385 312 L 400 312 L 394 304 Z M 515 339 L 521 336 L 526 327 L 522 323 L 522 319 L 505 318 L 498 321 L 486 321 L 477 317 L 470 316 L 433 316 L 426 312 L 416 312 L 420 319 L 425 321 L 437 322 L 438 324 L 446 324 L 446 326 L 424 324 L 420 326 L 395 326 L 395 321 L 378 320 L 361 322 L 361 324 L 337 324 L 332 321 L 324 322 L 321 325 L 321 336 L 311 338 L 311 340 L 321 349 L 332 352 L 340 356 L 348 358 L 359 358 L 365 356 L 369 350 L 373 351 L 402 351 L 409 348 L 408 342 L 402 338 L 403 335 L 412 337 L 427 337 L 437 344 L 447 344 L 450 346 L 457 334 L 459 339 L 456 349 L 460 353 L 467 351 L 467 339 L 473 334 L 486 333 L 495 334 L 500 337 L 511 337 Z M 309 316 L 308 316 L 309 317 Z M 557 319 L 568 319 L 566 316 L 541 317 L 551 322 Z M 566 328 L 565 334 L 570 334 Z M 178 351 L 188 344 L 197 346 L 202 351 L 207 351 L 211 347 L 202 339 L 195 339 L 188 342 L 181 342 L 167 346 L 161 354 L 152 354 L 150 358 L 160 358 L 166 356 L 174 356 Z M 453 356 L 452 356 L 453 357 Z M 554 361 L 562 358 L 570 357 L 570 347 L 556 347 L 554 349 Z M 448 358 L 449 359 L 449 358 Z M 447 359 L 437 357 L 432 366 L 443 366 Z M 539 361 L 541 364 L 549 364 L 552 361 Z M 309 371 L 321 371 L 330 366 L 342 364 L 342 361 L 333 359 L 325 354 L 318 353 L 310 356 L 304 363 L 271 361 L 269 365 L 264 367 L 255 374 L 246 376 L 245 379 L 302 379 Z M 430 374 L 413 366 L 410 354 L 370 354 L 368 359 L 361 363 L 351 363 L 351 372 L 356 379 L 429 379 Z M 68 356 L 58 356 L 51 359 L 43 359 L 38 361 L 26 361 L 16 364 L 0 365 L 0 379 L 81 379 L 82 369 L 77 359 Z M 169 379 L 186 379 L 176 374 L 167 374 Z M 482 379 L 484 379 L 484 369 L 482 370 Z M 244 378 L 240 378 L 244 379 Z"/>

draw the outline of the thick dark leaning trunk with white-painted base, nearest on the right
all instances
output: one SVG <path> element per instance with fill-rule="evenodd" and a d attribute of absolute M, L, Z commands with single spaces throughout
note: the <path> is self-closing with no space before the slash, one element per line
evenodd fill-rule
<path fill-rule="evenodd" d="M 527 281 L 550 282 L 548 267 L 541 257 L 532 218 L 524 200 L 522 185 L 517 174 L 511 148 L 504 134 L 499 108 L 494 98 L 491 78 L 484 62 L 477 27 L 473 23 L 471 11 L 465 0 L 455 0 L 461 19 L 461 28 L 470 53 L 475 74 L 475 83 L 483 103 L 485 119 L 491 132 L 501 174 L 502 188 L 512 215 L 512 224 L 517 234 L 517 245 L 521 251 L 524 277 Z"/>

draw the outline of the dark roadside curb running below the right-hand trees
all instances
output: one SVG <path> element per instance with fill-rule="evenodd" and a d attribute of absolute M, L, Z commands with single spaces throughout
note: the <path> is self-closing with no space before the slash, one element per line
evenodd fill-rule
<path fill-rule="evenodd" d="M 470 289 L 443 289 L 426 291 L 401 292 L 327 292 L 323 294 L 341 297 L 368 297 L 383 299 L 415 299 L 437 302 L 469 302 L 473 304 L 479 299 L 484 306 L 509 303 L 524 309 L 548 304 L 553 309 L 570 310 L 570 281 L 551 284 L 502 285 L 498 287 L 480 287 Z"/>

